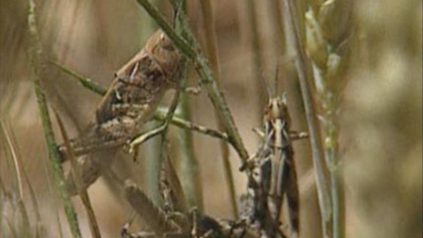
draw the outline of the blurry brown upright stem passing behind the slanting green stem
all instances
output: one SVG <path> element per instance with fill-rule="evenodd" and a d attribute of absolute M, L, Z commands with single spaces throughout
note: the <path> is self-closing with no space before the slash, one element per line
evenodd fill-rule
<path fill-rule="evenodd" d="M 216 77 L 216 84 L 220 87 L 220 67 L 217 54 L 217 40 L 214 30 L 214 18 L 213 18 L 213 7 L 211 0 L 202 0 L 200 1 L 201 10 L 203 13 L 203 27 L 205 28 L 206 34 L 206 49 L 207 55 L 210 59 L 210 64 L 213 70 L 213 73 Z M 215 117 L 217 119 L 217 125 L 219 130 L 224 130 L 222 119 L 219 117 L 219 114 L 214 110 Z M 231 161 L 229 160 L 229 147 L 225 141 L 220 142 L 220 148 L 222 150 L 222 159 L 223 159 L 223 169 L 225 171 L 226 184 L 229 189 L 229 197 L 231 199 L 232 205 L 232 215 L 235 219 L 238 219 L 238 206 L 237 206 L 237 195 L 235 192 L 234 176 L 232 174 Z"/>

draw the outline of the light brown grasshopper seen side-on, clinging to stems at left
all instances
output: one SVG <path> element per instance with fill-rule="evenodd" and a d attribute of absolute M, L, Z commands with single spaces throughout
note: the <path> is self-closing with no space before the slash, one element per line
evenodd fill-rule
<path fill-rule="evenodd" d="M 151 119 L 164 93 L 178 87 L 184 60 L 168 36 L 161 29 L 156 31 L 115 73 L 87 130 L 70 140 L 73 154 L 79 157 L 122 148 Z M 69 157 L 67 150 L 65 145 L 58 146 L 62 161 Z M 85 159 L 79 164 L 84 185 L 88 186 L 98 178 L 104 163 Z M 69 190 L 75 193 L 75 189 Z"/>

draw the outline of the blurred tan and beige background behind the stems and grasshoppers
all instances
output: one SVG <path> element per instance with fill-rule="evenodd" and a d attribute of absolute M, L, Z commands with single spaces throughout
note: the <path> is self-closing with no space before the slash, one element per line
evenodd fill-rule
<path fill-rule="evenodd" d="M 284 39 L 279 1 L 214 0 L 217 55 L 221 89 L 250 154 L 260 143 L 252 128 L 262 123 L 266 90 L 262 77 L 276 76 L 281 91 L 288 95 L 292 128 L 306 131 L 305 117 L 290 50 Z M 346 237 L 414 238 L 423 236 L 423 149 L 422 149 L 422 1 L 357 0 L 342 2 L 327 23 L 326 37 L 336 46 L 344 45 L 344 69 L 333 79 L 331 89 L 339 98 L 336 121 L 339 125 L 339 159 L 344 172 Z M 38 29 L 46 55 L 69 69 L 105 87 L 113 73 L 124 65 L 158 28 L 136 1 L 35 1 Z M 204 3 L 204 2 L 203 2 Z M 155 0 L 171 21 L 172 10 L 166 0 Z M 322 1 L 297 2 L 298 15 L 311 8 L 317 12 Z M 187 0 L 190 25 L 203 48 L 207 42 L 202 1 Z M 24 0 L 1 0 L 0 7 L 0 92 L 1 121 L 22 160 L 34 189 L 41 224 L 35 224 L 34 206 L 27 183 L 22 183 L 23 201 L 30 226 L 42 225 L 49 237 L 57 237 L 57 211 L 65 237 L 70 237 L 62 206 L 55 192 L 48 164 L 47 147 L 34 94 L 33 75 L 27 56 L 30 44 Z M 304 27 L 304 26 L 302 26 Z M 65 122 L 68 134 L 77 136 L 92 120 L 101 97 L 52 64 L 46 65 L 43 80 L 49 106 Z M 190 83 L 198 76 L 190 74 Z M 280 92 L 282 93 L 282 92 Z M 172 96 L 172 92 L 167 97 Z M 166 97 L 166 98 L 167 98 Z M 317 96 L 316 96 L 317 98 Z M 192 121 L 217 128 L 207 92 L 187 96 Z M 316 99 L 317 100 L 317 99 Z M 318 101 L 318 100 L 317 100 Z M 168 105 L 168 100 L 163 101 Z M 319 108 L 317 106 L 317 108 Z M 54 127 L 55 120 L 53 120 Z M 172 127 L 170 155 L 176 153 L 178 134 Z M 56 138 L 61 136 L 56 130 Z M 193 153 L 198 161 L 204 212 L 219 218 L 234 218 L 225 181 L 219 141 L 196 132 Z M 23 226 L 16 204 L 5 194 L 16 196 L 16 182 L 10 146 L 1 133 L 1 228 Z M 157 142 L 157 141 L 156 141 Z M 157 198 L 156 188 L 148 183 L 154 161 L 154 140 L 141 148 L 140 161 L 119 158 L 116 173 L 132 178 Z M 299 176 L 301 233 L 305 238 L 321 237 L 320 215 L 314 185 L 313 163 L 308 140 L 295 141 L 295 161 Z M 144 157 L 144 158 L 143 158 Z M 174 156 L 178 161 L 177 156 Z M 151 156 L 153 158 L 153 156 Z M 151 159 L 150 158 L 150 159 Z M 230 162 L 237 196 L 245 193 L 246 178 L 238 171 L 240 160 L 230 150 Z M 23 176 L 21 174 L 21 176 Z M 118 237 L 131 209 L 122 191 L 111 178 L 102 177 L 89 189 L 102 236 Z M 12 200 L 13 201 L 13 200 Z M 89 237 L 86 214 L 79 198 L 73 198 L 84 237 Z M 198 201 L 197 201 L 198 203 Z M 199 205 L 200 206 L 200 205 Z M 134 230 L 140 227 L 139 219 Z M 3 233 L 9 234 L 7 231 Z M 17 237 L 20 237 L 19 235 Z"/>

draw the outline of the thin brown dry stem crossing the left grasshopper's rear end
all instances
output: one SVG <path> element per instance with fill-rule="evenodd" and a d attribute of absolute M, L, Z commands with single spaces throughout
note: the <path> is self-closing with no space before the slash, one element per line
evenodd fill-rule
<path fill-rule="evenodd" d="M 88 221 L 89 221 L 91 236 L 93 238 L 101 238 L 100 229 L 99 229 L 99 226 L 97 224 L 97 220 L 96 220 L 96 217 L 95 217 L 95 214 L 94 214 L 94 210 L 92 209 L 88 193 L 87 193 L 86 189 L 84 188 L 84 185 L 83 185 L 83 182 L 82 182 L 81 171 L 78 169 L 77 158 L 75 157 L 75 154 L 73 153 L 73 151 L 71 149 L 72 147 L 71 147 L 71 144 L 70 144 L 70 141 L 69 141 L 69 137 L 66 133 L 65 127 L 63 126 L 62 120 L 60 119 L 59 115 L 57 114 L 57 112 L 55 110 L 53 110 L 53 112 L 54 112 L 54 115 L 57 119 L 57 124 L 58 124 L 60 132 L 62 134 L 64 144 L 68 149 L 67 152 L 68 152 L 68 158 L 70 158 L 70 160 L 71 160 L 72 177 L 74 178 L 74 182 L 76 184 L 77 191 L 78 191 L 79 196 L 81 198 L 82 204 L 84 205 L 85 212 L 87 212 L 87 215 L 88 215 Z"/>

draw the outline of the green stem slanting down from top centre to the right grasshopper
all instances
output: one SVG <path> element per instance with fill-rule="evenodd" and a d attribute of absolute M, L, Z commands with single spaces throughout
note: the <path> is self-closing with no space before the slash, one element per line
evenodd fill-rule
<path fill-rule="evenodd" d="M 205 83 L 205 87 L 213 105 L 218 109 L 219 115 L 222 117 L 222 122 L 228 133 L 229 141 L 237 151 L 242 164 L 245 164 L 246 160 L 248 159 L 247 150 L 243 145 L 242 139 L 239 136 L 238 130 L 235 126 L 234 119 L 232 118 L 222 92 L 217 86 L 216 80 L 213 77 L 212 70 L 206 58 L 202 53 L 194 50 L 194 48 L 192 48 L 183 38 L 181 38 L 172 29 L 172 27 L 167 24 L 166 20 L 164 20 L 159 11 L 148 0 L 137 0 L 137 2 L 142 5 L 148 14 L 157 22 L 157 24 L 163 29 L 167 36 L 173 41 L 175 46 L 194 62 L 198 73 L 203 78 L 203 82 Z M 195 39 L 193 38 L 192 40 L 193 45 L 197 46 L 198 44 L 196 43 Z"/>

